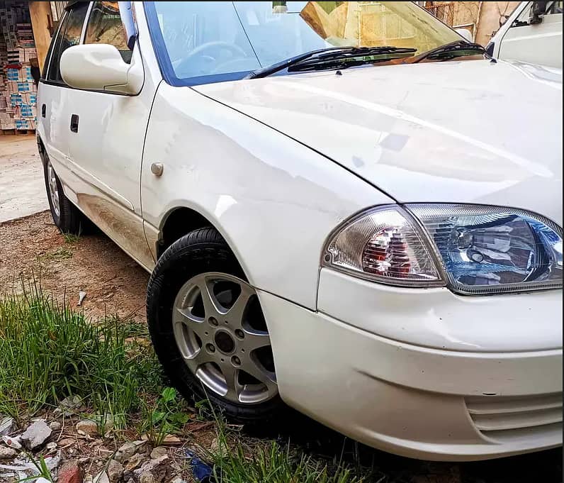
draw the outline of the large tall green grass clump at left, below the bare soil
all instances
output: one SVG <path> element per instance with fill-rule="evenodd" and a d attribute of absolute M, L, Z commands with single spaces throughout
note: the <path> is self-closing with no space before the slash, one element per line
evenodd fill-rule
<path fill-rule="evenodd" d="M 118 426 L 160 381 L 152 349 L 116 318 L 91 323 L 33 284 L 0 300 L 0 412 L 33 415 L 78 395 Z"/>

